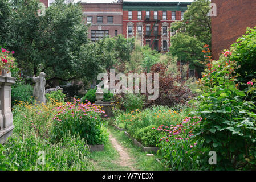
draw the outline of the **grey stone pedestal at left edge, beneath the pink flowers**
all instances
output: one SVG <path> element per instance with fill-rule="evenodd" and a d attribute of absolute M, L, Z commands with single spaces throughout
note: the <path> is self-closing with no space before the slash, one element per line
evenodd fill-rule
<path fill-rule="evenodd" d="M 11 85 L 15 78 L 11 78 L 10 72 L 0 76 L 0 143 L 13 133 L 13 113 L 11 113 Z"/>

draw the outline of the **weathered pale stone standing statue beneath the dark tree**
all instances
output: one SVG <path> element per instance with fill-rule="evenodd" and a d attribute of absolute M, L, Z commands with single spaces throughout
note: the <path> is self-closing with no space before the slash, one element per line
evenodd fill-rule
<path fill-rule="evenodd" d="M 36 103 L 46 103 L 46 97 L 45 97 L 45 85 L 46 85 L 46 79 L 44 78 L 46 76 L 46 73 L 41 72 L 38 77 L 35 77 L 33 75 L 33 82 L 35 82 L 34 90 L 33 90 L 33 96 L 36 99 Z"/>

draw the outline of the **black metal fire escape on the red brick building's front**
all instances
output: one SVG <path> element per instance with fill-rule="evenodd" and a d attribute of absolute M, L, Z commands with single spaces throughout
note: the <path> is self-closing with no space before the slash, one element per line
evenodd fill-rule
<path fill-rule="evenodd" d="M 161 51 L 158 47 L 158 42 L 155 43 L 156 39 L 159 38 L 159 36 L 160 36 L 159 27 L 156 26 L 156 24 L 159 23 L 160 20 L 161 20 L 161 16 L 153 16 L 153 19 L 151 19 L 150 16 L 145 16 L 145 22 L 148 22 L 148 23 L 155 22 L 153 24 L 152 28 L 149 28 L 149 29 L 151 29 L 150 31 L 147 30 L 147 27 L 146 27 L 146 32 L 144 35 L 145 35 L 145 37 L 154 37 L 153 42 L 150 44 L 149 47 L 152 48 L 152 46 L 154 45 L 153 49 L 155 49 L 156 51 Z M 153 31 L 153 34 L 152 34 L 152 31 Z"/>

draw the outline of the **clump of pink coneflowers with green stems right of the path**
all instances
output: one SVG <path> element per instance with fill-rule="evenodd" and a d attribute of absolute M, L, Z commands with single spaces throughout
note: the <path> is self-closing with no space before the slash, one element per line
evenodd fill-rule
<path fill-rule="evenodd" d="M 162 154 L 163 162 L 172 170 L 199 169 L 202 142 L 194 138 L 194 129 L 201 121 L 201 117 L 186 117 L 177 125 L 161 125 L 157 129 L 152 128 L 162 135 L 157 147 Z"/>

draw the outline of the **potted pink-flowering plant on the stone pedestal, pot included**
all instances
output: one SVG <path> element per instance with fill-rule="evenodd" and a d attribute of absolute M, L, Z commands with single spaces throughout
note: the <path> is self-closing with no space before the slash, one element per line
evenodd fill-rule
<path fill-rule="evenodd" d="M 5 48 L 0 50 L 0 75 L 11 77 L 11 69 L 15 67 L 14 51 L 8 51 Z"/>

